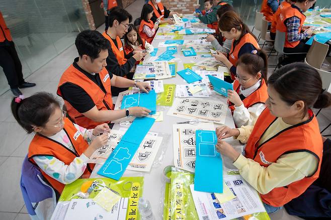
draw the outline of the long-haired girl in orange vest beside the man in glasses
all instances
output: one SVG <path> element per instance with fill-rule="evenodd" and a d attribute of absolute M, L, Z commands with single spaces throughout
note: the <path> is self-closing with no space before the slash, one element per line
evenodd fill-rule
<path fill-rule="evenodd" d="M 124 35 L 124 51 L 126 54 L 131 53 L 134 50 L 147 50 L 148 53 L 153 52 L 154 47 L 141 38 L 136 27 L 133 24 L 129 24 L 128 32 Z M 140 61 L 137 61 L 138 63 Z"/>

